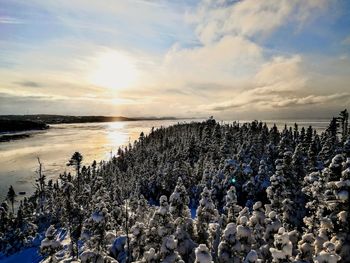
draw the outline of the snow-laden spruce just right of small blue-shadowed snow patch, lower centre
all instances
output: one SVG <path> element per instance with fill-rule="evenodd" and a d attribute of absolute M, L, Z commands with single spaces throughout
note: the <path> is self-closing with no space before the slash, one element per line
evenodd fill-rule
<path fill-rule="evenodd" d="M 197 242 L 200 244 L 209 245 L 209 224 L 216 223 L 218 221 L 219 213 L 215 208 L 213 200 L 211 199 L 211 192 L 206 187 L 201 193 L 201 200 L 199 201 L 196 214 Z"/>

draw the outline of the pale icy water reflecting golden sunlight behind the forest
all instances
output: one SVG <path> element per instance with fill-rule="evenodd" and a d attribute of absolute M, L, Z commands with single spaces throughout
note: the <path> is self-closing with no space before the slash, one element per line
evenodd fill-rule
<path fill-rule="evenodd" d="M 133 143 L 143 131 L 148 133 L 152 127 L 166 127 L 178 122 L 191 120 L 132 121 L 109 123 L 57 124 L 45 131 L 34 132 L 29 138 L 0 143 L 0 201 L 13 185 L 15 191 L 33 193 L 38 168 L 37 157 L 44 164 L 48 179 L 58 178 L 60 173 L 70 168 L 66 163 L 76 151 L 88 165 L 93 160 L 108 160 L 111 152 L 116 153 L 119 146 Z M 225 121 L 226 122 L 226 121 Z M 240 121 L 244 122 L 244 121 Z M 318 131 L 324 130 L 329 120 L 272 120 L 266 121 L 279 128 L 284 124 L 299 126 L 312 125 Z"/>

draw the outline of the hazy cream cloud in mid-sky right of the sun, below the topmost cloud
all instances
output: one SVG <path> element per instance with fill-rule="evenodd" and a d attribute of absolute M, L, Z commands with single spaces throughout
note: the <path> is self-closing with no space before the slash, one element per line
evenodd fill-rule
<path fill-rule="evenodd" d="M 166 54 L 162 72 L 167 79 L 186 82 L 228 82 L 243 76 L 262 58 L 262 50 L 242 37 L 226 36 L 192 48 L 173 46 Z"/>

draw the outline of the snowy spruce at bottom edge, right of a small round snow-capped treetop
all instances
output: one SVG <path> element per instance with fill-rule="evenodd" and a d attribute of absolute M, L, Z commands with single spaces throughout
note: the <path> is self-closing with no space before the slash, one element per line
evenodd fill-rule
<path fill-rule="evenodd" d="M 237 239 L 237 230 L 234 223 L 229 223 L 221 237 L 218 260 L 220 263 L 241 262 L 241 243 Z"/>

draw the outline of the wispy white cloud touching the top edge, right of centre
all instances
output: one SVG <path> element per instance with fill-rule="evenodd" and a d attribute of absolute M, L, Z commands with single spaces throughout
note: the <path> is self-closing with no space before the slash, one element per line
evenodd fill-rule
<path fill-rule="evenodd" d="M 211 43 L 227 34 L 252 37 L 266 35 L 287 22 L 299 25 L 325 10 L 327 0 L 207 0 L 202 1 L 190 21 L 202 43 Z"/>

